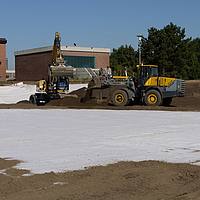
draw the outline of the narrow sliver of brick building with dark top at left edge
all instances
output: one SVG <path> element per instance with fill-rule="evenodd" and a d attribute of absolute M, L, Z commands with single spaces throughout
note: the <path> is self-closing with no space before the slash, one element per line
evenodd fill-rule
<path fill-rule="evenodd" d="M 0 80 L 6 79 L 6 43 L 5 38 L 0 38 Z"/>

